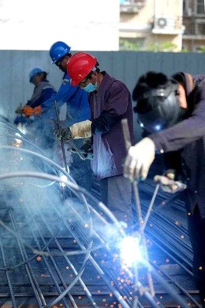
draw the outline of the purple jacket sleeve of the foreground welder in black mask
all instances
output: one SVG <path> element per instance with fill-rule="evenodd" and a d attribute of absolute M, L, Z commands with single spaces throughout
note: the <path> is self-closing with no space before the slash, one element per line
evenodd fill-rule
<path fill-rule="evenodd" d="M 205 136 L 205 88 L 196 93 L 196 105 L 191 116 L 180 123 L 151 134 L 151 138 L 159 152 L 177 151 Z"/>

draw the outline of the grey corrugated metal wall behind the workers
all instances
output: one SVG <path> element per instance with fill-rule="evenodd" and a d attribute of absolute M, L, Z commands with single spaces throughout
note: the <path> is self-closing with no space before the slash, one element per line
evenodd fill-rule
<path fill-rule="evenodd" d="M 73 51 L 74 53 L 74 51 Z M 148 70 L 162 71 L 171 75 L 177 71 L 192 74 L 205 73 L 205 53 L 97 51 L 101 70 L 125 82 L 130 91 L 137 79 Z M 48 51 L 0 50 L 0 113 L 12 120 L 19 103 L 26 104 L 33 86 L 28 74 L 33 67 L 49 72 L 49 81 L 58 88 L 63 73 L 51 65 Z M 137 137 L 137 136 L 136 136 Z M 138 138 L 138 137 L 137 137 Z"/>

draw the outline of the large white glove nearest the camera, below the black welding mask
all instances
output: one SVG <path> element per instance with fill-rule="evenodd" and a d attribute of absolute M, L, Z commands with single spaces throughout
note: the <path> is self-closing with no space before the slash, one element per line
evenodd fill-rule
<path fill-rule="evenodd" d="M 125 160 L 124 176 L 132 182 L 145 180 L 154 158 L 154 141 L 146 137 L 130 147 Z"/>

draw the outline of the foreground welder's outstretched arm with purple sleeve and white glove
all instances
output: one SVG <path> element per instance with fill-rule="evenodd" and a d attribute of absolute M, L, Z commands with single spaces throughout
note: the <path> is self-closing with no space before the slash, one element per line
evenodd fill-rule
<path fill-rule="evenodd" d="M 177 151 L 205 135 L 205 89 L 200 87 L 195 96 L 191 116 L 182 122 L 142 139 L 131 146 L 125 160 L 124 175 L 131 181 L 146 179 L 158 152 Z M 198 103 L 197 103 L 198 102 Z"/>

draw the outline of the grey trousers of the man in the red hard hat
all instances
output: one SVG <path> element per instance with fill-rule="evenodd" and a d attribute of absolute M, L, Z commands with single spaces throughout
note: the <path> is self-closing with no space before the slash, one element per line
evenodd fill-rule
<path fill-rule="evenodd" d="M 100 180 L 101 201 L 121 222 L 128 224 L 128 231 L 133 226 L 131 207 L 132 184 L 123 175 Z"/>

